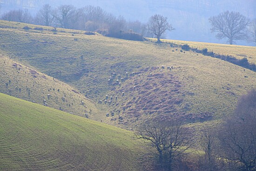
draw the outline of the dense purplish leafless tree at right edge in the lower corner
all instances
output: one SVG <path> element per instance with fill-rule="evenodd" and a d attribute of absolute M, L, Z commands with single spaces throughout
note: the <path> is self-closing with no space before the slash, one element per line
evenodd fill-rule
<path fill-rule="evenodd" d="M 255 89 L 239 99 L 234 115 L 225 120 L 221 130 L 222 157 L 236 163 L 242 171 L 256 171 Z"/>

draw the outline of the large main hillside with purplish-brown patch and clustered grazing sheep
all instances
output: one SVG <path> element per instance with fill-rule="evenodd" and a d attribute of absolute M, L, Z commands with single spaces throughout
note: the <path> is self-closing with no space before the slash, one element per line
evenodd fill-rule
<path fill-rule="evenodd" d="M 1 51 L 99 102 L 107 111 L 102 120 L 110 124 L 128 127 L 159 114 L 176 114 L 191 122 L 220 119 L 232 112 L 239 95 L 256 88 L 255 72 L 168 44 L 0 24 Z"/>

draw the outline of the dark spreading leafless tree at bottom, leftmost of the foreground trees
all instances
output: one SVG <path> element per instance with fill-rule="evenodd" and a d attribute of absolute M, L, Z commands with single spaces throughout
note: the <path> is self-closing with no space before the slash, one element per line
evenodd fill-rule
<path fill-rule="evenodd" d="M 158 162 L 162 169 L 173 170 L 177 157 L 186 152 L 191 142 L 186 137 L 182 122 L 171 120 L 147 120 L 138 129 L 140 139 L 146 139 L 158 152 Z"/>

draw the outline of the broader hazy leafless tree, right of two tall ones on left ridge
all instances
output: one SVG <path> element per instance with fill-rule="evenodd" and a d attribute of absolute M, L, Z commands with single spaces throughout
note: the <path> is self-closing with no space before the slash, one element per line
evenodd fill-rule
<path fill-rule="evenodd" d="M 55 9 L 53 16 L 58 24 L 63 28 L 70 28 L 70 23 L 74 22 L 75 7 L 72 5 L 61 5 Z"/>

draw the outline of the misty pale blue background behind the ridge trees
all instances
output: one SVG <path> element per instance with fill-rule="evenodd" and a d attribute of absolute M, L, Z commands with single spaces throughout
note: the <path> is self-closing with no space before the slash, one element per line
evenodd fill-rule
<path fill-rule="evenodd" d="M 60 5 L 100 6 L 116 17 L 127 21 L 148 22 L 150 16 L 162 14 L 175 28 L 163 38 L 226 44 L 227 39 L 218 40 L 210 31 L 209 18 L 224 11 L 235 11 L 249 19 L 256 18 L 256 0 L 0 0 L 1 14 L 13 9 L 27 9 L 35 14 L 44 4 L 53 8 Z M 253 45 L 236 41 L 240 45 Z"/>

